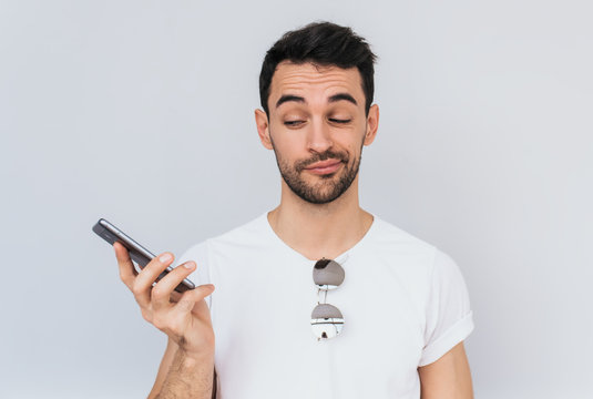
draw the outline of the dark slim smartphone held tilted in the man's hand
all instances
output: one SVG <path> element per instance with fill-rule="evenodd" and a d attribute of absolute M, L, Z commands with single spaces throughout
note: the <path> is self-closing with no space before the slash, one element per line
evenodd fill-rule
<path fill-rule="evenodd" d="M 104 218 L 101 218 L 99 219 L 99 222 L 96 222 L 96 224 L 93 226 L 93 232 L 95 232 L 96 235 L 99 235 L 101 238 L 103 238 L 111 245 L 113 245 L 115 242 L 121 243 L 124 247 L 127 248 L 130 257 L 139 265 L 140 268 L 144 268 L 144 266 L 146 266 L 149 262 L 156 257 L 156 255 L 144 248 L 142 245 L 136 243 L 129 235 L 126 235 L 124 232 L 122 232 Z M 173 270 L 173 267 L 168 266 L 156 278 L 156 282 L 166 276 L 166 274 L 171 270 Z M 175 287 L 175 290 L 177 293 L 185 293 L 187 289 L 194 288 L 194 283 L 190 282 L 187 278 L 184 278 L 183 282 L 181 282 L 180 285 Z"/>

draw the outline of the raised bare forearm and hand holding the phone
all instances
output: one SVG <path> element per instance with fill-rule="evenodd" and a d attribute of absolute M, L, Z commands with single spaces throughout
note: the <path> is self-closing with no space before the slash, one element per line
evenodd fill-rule
<path fill-rule="evenodd" d="M 137 275 L 123 245 L 113 245 L 120 277 L 134 294 L 142 316 L 168 336 L 168 345 L 159 369 L 151 398 L 209 399 L 214 372 L 214 330 L 204 300 L 213 285 L 201 285 L 180 295 L 175 287 L 196 265 L 186 262 L 157 277 L 173 263 L 165 253 L 152 259 Z"/>

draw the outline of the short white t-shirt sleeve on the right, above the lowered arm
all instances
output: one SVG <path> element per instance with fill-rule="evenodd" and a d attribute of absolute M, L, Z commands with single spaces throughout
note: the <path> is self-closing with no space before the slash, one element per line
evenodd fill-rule
<path fill-rule="evenodd" d="M 437 249 L 427 303 L 425 348 L 418 366 L 430 365 L 473 330 L 468 288 L 451 257 Z"/>

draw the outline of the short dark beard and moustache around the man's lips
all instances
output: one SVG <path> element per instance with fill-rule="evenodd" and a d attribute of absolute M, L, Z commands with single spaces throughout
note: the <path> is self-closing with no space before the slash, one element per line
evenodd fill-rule
<path fill-rule="evenodd" d="M 360 144 L 359 156 L 355 156 L 351 164 L 348 153 L 327 150 L 323 153 L 316 153 L 307 160 L 297 161 L 294 165 L 290 165 L 278 154 L 274 141 L 272 141 L 272 146 L 274 149 L 274 154 L 276 155 L 276 163 L 278 164 L 280 175 L 286 185 L 299 198 L 311 204 L 328 204 L 334 200 L 339 198 L 341 194 L 350 187 L 358 175 L 358 168 L 360 167 L 360 160 L 362 157 L 362 144 Z M 334 173 L 318 176 L 320 181 L 317 183 L 308 183 L 301 177 L 301 173 L 307 166 L 329 158 L 339 160 L 344 166 Z"/>

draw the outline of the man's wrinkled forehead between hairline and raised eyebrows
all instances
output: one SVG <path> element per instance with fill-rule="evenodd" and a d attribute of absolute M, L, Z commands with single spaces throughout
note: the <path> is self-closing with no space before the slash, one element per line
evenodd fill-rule
<path fill-rule="evenodd" d="M 307 98 L 307 94 L 329 96 L 336 92 L 347 92 L 357 100 L 364 98 L 362 80 L 356 66 L 342 69 L 284 61 L 278 64 L 272 78 L 269 100 L 273 104 L 287 93 Z"/>

